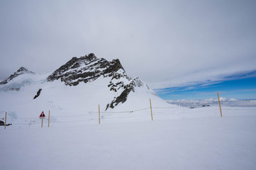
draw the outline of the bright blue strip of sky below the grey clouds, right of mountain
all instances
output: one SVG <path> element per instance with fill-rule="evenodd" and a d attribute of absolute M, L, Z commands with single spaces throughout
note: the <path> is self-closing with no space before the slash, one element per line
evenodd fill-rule
<path fill-rule="evenodd" d="M 216 98 L 256 98 L 256 71 L 233 74 L 223 81 L 194 82 L 191 86 L 155 89 L 164 100 Z"/>

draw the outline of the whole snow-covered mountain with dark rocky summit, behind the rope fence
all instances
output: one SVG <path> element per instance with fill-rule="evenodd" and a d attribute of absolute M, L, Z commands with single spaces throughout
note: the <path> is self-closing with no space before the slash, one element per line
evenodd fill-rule
<path fill-rule="evenodd" d="M 11 123 L 18 118 L 38 118 L 49 110 L 56 116 L 90 115 L 98 111 L 98 105 L 102 112 L 138 110 L 149 108 L 149 98 L 153 105 L 171 106 L 139 77 L 128 77 L 119 60 L 108 62 L 90 54 L 73 57 L 50 74 L 23 70 L 0 85 L 0 111 L 7 111 Z"/>

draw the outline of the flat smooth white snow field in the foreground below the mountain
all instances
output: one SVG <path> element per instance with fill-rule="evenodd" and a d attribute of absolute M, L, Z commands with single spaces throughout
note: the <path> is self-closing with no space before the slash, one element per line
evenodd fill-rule
<path fill-rule="evenodd" d="M 2 126 L 1 169 L 255 169 L 256 108 L 161 109 Z"/>

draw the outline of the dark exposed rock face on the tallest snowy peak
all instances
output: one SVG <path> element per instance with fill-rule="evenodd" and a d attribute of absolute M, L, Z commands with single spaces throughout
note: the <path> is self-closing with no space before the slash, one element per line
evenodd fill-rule
<path fill-rule="evenodd" d="M 136 77 L 131 79 L 127 76 L 120 61 L 112 60 L 108 62 L 104 58 L 97 58 L 93 53 L 84 57 L 73 57 L 66 64 L 63 64 L 59 69 L 56 69 L 53 74 L 47 78 L 48 81 L 60 79 L 65 85 L 76 86 L 81 82 L 95 81 L 99 77 L 110 77 L 111 81 L 108 84 L 110 91 L 117 92 L 116 97 L 107 104 L 107 108 L 114 108 L 119 103 L 127 101 L 127 96 L 130 92 L 134 92 L 135 86 L 144 86 L 143 82 Z"/>

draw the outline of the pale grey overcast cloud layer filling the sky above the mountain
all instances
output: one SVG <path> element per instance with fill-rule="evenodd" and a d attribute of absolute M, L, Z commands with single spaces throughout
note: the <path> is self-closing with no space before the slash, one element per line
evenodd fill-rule
<path fill-rule="evenodd" d="M 153 89 L 256 69 L 256 1 L 0 1 L 0 79 L 90 52 Z"/>

